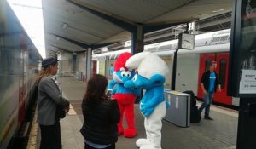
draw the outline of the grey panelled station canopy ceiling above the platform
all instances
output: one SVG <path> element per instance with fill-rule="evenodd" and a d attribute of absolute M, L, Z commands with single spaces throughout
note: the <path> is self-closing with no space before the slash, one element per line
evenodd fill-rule
<path fill-rule="evenodd" d="M 46 56 L 131 40 L 131 32 L 92 13 L 132 26 L 172 25 L 229 12 L 232 0 L 44 0 Z"/>

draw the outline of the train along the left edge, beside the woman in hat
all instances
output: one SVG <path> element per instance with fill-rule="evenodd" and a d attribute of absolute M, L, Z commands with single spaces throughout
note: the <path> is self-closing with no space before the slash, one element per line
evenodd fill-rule
<path fill-rule="evenodd" d="M 21 129 L 29 127 L 27 113 L 40 60 L 9 4 L 0 1 L 0 148 L 12 148 L 23 137 Z"/>

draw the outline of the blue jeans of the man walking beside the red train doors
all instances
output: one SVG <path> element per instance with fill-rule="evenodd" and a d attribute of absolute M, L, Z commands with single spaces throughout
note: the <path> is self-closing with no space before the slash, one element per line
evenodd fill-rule
<path fill-rule="evenodd" d="M 210 106 L 212 103 L 214 93 L 207 92 L 207 95 L 203 95 L 204 102 L 201 104 L 201 107 L 199 108 L 199 112 L 202 112 L 204 108 L 205 109 L 205 117 L 209 117 L 210 113 Z"/>

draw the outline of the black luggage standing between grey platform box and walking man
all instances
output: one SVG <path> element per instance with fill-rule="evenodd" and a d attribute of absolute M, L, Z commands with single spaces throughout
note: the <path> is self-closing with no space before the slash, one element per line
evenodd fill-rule
<path fill-rule="evenodd" d="M 201 112 L 199 112 L 196 106 L 196 98 L 192 90 L 184 91 L 183 93 L 190 95 L 190 123 L 200 123 Z"/>

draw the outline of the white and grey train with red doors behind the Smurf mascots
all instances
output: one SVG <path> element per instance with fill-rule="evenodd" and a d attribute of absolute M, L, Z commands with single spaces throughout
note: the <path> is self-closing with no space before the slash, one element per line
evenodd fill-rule
<path fill-rule="evenodd" d="M 178 40 L 175 39 L 162 43 L 148 44 L 143 49 L 143 51 L 158 54 L 166 61 L 167 66 L 169 66 L 170 73 L 166 77 L 165 89 L 171 89 L 172 86 L 173 55 L 177 49 L 177 43 Z M 103 73 L 104 70 L 108 70 L 109 67 L 113 66 L 114 60 L 123 52 L 131 52 L 131 49 L 93 54 L 94 73 Z M 219 75 L 222 88 L 221 93 L 214 95 L 213 103 L 237 109 L 240 99 L 227 95 L 230 61 L 230 29 L 195 35 L 195 49 L 178 50 L 175 90 L 180 92 L 192 90 L 195 93 L 195 97 L 201 100 L 201 76 L 209 68 L 210 62 L 213 60 L 218 63 L 216 72 Z M 110 74 L 104 75 L 111 79 Z"/>

